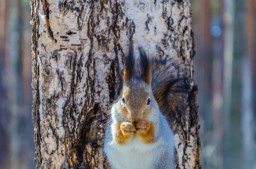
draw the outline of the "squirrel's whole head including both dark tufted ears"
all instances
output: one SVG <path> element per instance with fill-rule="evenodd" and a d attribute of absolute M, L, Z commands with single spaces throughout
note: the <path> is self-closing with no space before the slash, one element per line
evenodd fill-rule
<path fill-rule="evenodd" d="M 137 122 L 140 119 L 155 120 L 159 108 L 151 89 L 151 70 L 148 57 L 139 47 L 140 71 L 135 70 L 133 48 L 130 46 L 124 59 L 124 85 L 118 99 L 119 109 L 126 120 Z"/>

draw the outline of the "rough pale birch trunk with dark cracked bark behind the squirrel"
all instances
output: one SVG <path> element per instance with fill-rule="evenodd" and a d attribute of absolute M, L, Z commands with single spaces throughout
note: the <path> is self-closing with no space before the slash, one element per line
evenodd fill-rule
<path fill-rule="evenodd" d="M 31 0 L 31 10 L 37 168 L 108 168 L 105 122 L 130 40 L 189 79 L 186 112 L 170 124 L 177 168 L 201 168 L 189 0 Z"/>

